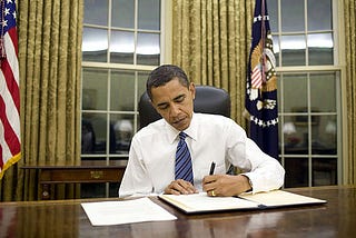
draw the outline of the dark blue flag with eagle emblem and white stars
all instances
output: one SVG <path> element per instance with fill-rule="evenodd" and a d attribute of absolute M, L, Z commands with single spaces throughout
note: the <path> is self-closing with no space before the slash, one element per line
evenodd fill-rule
<path fill-rule="evenodd" d="M 245 107 L 250 138 L 278 159 L 278 110 L 276 59 L 267 13 L 267 1 L 256 0 L 248 61 Z"/>

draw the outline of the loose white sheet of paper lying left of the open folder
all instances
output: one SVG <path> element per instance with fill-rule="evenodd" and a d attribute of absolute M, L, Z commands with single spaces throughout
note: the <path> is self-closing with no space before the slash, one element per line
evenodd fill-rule
<path fill-rule="evenodd" d="M 156 205 L 149 198 L 83 202 L 81 207 L 85 209 L 92 226 L 177 219 L 177 217 Z"/>

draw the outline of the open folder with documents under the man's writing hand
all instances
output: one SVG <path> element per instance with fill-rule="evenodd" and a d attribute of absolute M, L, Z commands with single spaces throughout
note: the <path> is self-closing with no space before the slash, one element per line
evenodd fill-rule
<path fill-rule="evenodd" d="M 296 195 L 284 190 L 273 190 L 258 194 L 243 194 L 238 197 L 209 197 L 206 192 L 194 195 L 159 195 L 160 199 L 179 208 L 186 214 L 265 209 L 298 205 L 318 205 L 326 200 Z"/>

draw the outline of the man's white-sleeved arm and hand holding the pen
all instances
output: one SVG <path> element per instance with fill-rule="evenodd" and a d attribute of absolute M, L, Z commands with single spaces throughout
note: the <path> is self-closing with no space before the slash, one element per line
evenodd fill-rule
<path fill-rule="evenodd" d="M 243 128 L 230 125 L 226 133 L 229 162 L 246 172 L 238 176 L 206 176 L 202 186 L 208 195 L 236 196 L 245 191 L 269 191 L 283 186 L 284 168 L 247 138 Z"/>

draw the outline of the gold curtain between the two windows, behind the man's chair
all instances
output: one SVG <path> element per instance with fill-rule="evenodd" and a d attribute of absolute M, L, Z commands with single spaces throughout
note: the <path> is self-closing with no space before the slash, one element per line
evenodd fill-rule
<path fill-rule="evenodd" d="M 196 85 L 227 90 L 243 127 L 254 1 L 172 0 L 172 63 Z"/>

